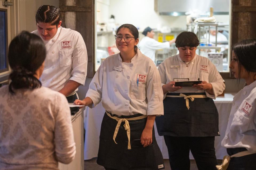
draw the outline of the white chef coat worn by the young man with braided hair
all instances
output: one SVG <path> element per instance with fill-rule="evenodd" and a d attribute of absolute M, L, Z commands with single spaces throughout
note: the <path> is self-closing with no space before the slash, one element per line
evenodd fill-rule
<path fill-rule="evenodd" d="M 40 36 L 37 30 L 32 33 Z M 40 78 L 43 86 L 59 91 L 69 80 L 85 84 L 87 51 L 79 32 L 59 27 L 45 47 L 45 68 Z"/>

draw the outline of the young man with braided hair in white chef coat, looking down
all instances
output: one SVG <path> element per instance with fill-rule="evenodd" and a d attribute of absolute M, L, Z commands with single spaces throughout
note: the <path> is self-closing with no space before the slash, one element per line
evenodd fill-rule
<path fill-rule="evenodd" d="M 50 5 L 38 8 L 35 20 L 39 35 L 45 43 L 45 69 L 41 77 L 43 86 L 59 91 L 69 103 L 77 99 L 78 86 L 85 84 L 87 51 L 81 34 L 61 27 L 60 9 Z M 75 113 L 78 110 L 71 110 Z"/>

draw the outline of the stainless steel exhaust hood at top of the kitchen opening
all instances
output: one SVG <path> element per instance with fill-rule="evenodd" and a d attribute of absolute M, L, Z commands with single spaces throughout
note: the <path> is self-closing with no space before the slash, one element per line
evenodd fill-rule
<path fill-rule="evenodd" d="M 159 15 L 179 16 L 185 12 L 200 11 L 210 12 L 213 7 L 213 14 L 228 15 L 230 0 L 155 0 L 155 11 Z"/>

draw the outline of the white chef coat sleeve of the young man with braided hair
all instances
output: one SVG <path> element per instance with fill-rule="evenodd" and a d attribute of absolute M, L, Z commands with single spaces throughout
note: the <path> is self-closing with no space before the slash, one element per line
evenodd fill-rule
<path fill-rule="evenodd" d="M 83 37 L 80 33 L 75 36 L 77 42 L 72 53 L 72 77 L 70 80 L 85 85 L 87 74 L 87 50 Z"/>

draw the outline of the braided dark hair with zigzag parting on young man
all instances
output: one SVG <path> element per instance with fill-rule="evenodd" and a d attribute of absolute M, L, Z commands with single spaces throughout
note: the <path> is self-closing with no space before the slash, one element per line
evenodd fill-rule
<path fill-rule="evenodd" d="M 51 23 L 51 25 L 56 25 L 57 27 L 61 21 L 61 10 L 54 6 L 42 5 L 37 10 L 35 20 L 37 23 Z"/>

